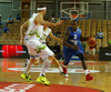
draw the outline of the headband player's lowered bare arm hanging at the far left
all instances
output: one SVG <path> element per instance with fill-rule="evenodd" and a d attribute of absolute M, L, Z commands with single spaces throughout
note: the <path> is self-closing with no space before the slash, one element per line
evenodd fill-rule
<path fill-rule="evenodd" d="M 22 44 L 23 42 L 23 35 L 24 35 L 24 32 L 26 32 L 26 29 L 28 29 L 28 23 L 29 21 L 26 21 L 21 27 L 20 27 L 20 43 L 19 44 Z"/>

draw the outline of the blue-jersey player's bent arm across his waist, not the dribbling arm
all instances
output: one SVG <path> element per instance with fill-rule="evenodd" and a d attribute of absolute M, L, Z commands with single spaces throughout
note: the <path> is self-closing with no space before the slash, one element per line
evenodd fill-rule
<path fill-rule="evenodd" d="M 78 45 L 72 45 L 72 44 L 69 44 L 67 42 L 69 35 L 70 35 L 70 30 L 67 29 L 65 32 L 64 32 L 64 37 L 63 37 L 63 45 L 69 47 L 69 48 L 72 48 L 73 50 L 78 50 L 79 49 Z"/>

